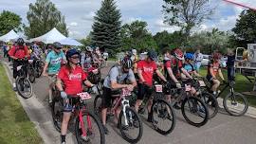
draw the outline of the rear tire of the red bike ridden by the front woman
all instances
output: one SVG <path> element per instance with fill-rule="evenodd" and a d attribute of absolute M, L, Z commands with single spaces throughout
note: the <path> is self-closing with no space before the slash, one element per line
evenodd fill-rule
<path fill-rule="evenodd" d="M 62 98 L 55 97 L 52 99 L 51 116 L 55 129 L 61 133 L 61 126 L 63 120 L 64 103 Z"/>

